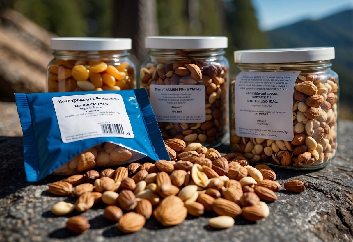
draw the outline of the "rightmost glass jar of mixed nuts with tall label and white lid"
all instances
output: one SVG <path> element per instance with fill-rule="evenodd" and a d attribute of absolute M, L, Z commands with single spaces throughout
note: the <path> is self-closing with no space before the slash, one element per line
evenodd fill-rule
<path fill-rule="evenodd" d="M 336 156 L 334 47 L 239 50 L 231 82 L 231 149 L 253 163 L 324 167 Z"/>

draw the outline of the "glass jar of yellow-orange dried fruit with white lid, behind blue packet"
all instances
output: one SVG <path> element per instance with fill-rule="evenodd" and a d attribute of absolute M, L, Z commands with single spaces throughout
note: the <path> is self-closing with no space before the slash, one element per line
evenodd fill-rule
<path fill-rule="evenodd" d="M 54 59 L 47 68 L 47 91 L 103 91 L 136 88 L 128 59 L 130 38 L 58 37 L 50 40 Z"/>

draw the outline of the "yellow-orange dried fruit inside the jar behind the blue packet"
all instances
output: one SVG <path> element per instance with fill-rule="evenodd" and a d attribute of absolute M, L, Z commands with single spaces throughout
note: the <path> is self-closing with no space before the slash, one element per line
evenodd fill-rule
<path fill-rule="evenodd" d="M 110 91 L 136 87 L 134 67 L 127 61 L 55 60 L 48 68 L 48 91 Z M 117 66 L 116 66 L 117 65 Z"/>

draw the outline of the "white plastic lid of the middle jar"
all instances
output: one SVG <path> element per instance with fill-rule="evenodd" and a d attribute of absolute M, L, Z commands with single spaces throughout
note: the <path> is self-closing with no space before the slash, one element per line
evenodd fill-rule
<path fill-rule="evenodd" d="M 225 36 L 149 36 L 145 47 L 151 49 L 218 49 L 228 47 Z"/>

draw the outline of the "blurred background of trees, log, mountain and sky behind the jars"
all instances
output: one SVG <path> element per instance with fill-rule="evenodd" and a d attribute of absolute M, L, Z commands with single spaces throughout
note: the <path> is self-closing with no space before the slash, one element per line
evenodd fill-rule
<path fill-rule="evenodd" d="M 0 0 L 0 101 L 45 91 L 52 37 L 130 37 L 139 67 L 149 35 L 228 36 L 230 73 L 234 50 L 334 46 L 340 117 L 353 120 L 352 0 Z"/>

